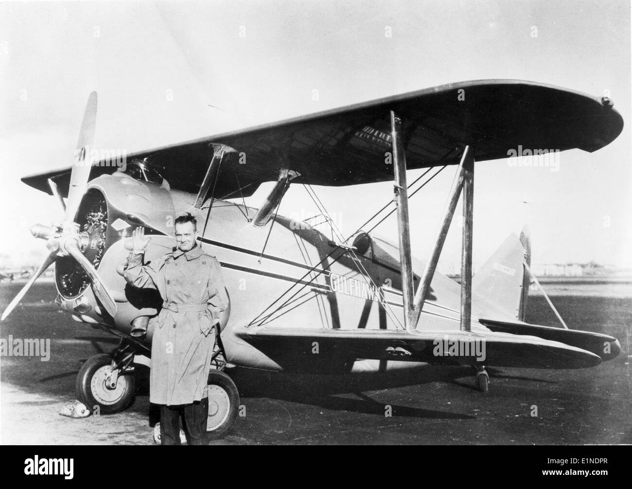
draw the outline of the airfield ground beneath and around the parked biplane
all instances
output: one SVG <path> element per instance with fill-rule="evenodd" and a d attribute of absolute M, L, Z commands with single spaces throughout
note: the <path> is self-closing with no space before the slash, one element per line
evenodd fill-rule
<path fill-rule="evenodd" d="M 22 286 L 0 284 L 0 310 Z M 619 357 L 582 370 L 490 368 L 485 394 L 475 389 L 470 368 L 425 367 L 370 378 L 235 369 L 230 375 L 246 416 L 214 443 L 632 444 L 632 284 L 545 287 L 569 327 L 617 337 Z M 3 339 L 51 339 L 49 361 L 0 359 L 0 443 L 151 445 L 158 413 L 149 403 L 143 367 L 127 411 L 83 419 L 59 415 L 74 399 L 83 361 L 118 341 L 58 311 L 55 294 L 54 284 L 35 284 L 0 325 Z M 527 321 L 558 325 L 541 295 L 530 296 Z"/>

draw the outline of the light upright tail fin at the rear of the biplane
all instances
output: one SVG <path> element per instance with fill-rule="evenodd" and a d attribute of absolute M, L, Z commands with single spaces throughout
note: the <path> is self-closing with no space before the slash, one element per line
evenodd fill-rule
<path fill-rule="evenodd" d="M 525 320 L 529 277 L 523 262 L 530 264 L 531 242 L 527 227 L 509 235 L 494 255 L 472 277 L 472 292 L 493 302 L 507 317 Z"/>

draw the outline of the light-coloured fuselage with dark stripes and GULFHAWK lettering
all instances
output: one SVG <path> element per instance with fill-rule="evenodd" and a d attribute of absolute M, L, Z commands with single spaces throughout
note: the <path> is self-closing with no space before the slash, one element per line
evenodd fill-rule
<path fill-rule="evenodd" d="M 360 253 L 338 246 L 305 222 L 281 215 L 267 226 L 252 226 L 249 218 L 256 209 L 219 199 L 207 200 L 201 208 L 195 208 L 196 195 L 125 174 L 100 176 L 89 187 L 84 203 L 90 198 L 100 199 L 101 206 L 106 202 L 107 216 L 92 212 L 87 222 L 82 213 L 94 209 L 95 204 L 80 208 L 78 222 L 83 219 L 84 227 L 95 220 L 95 215 L 102 218 L 100 227 L 90 228 L 95 239 L 84 253 L 97 262 L 99 273 L 113 291 L 118 312 L 114 318 L 107 316 L 89 286 L 75 284 L 70 290 L 70 274 L 67 270 L 63 274 L 62 263 L 56 274 L 58 302 L 76 320 L 127 335 L 134 318 L 155 316 L 160 306 L 157 293 L 134 290 L 122 276 L 122 265 L 131 249 L 131 229 L 139 221 L 145 224 L 147 236 L 152 237 L 145 263 L 157 262 L 176 244 L 173 219 L 191 212 L 197 218 L 202 248 L 222 265 L 230 306 L 222 318 L 221 335 L 229 362 L 265 370 L 372 370 L 368 361 L 345 358 L 344 353 L 326 361 L 315 358 L 313 365 L 288 365 L 282 359 L 283 352 L 264 353 L 237 333 L 265 325 L 288 329 L 403 329 L 401 274 L 397 248 L 391 244 L 371 239 L 370 246 Z M 420 262 L 413 263 L 415 282 L 422 267 Z M 419 324 L 446 333 L 458 330 L 459 285 L 435 274 L 431 287 Z M 490 307 L 486 301 L 473 301 L 474 329 L 483 328 L 478 317 L 481 308 Z M 147 344 L 151 337 L 150 329 Z M 372 363 L 384 369 L 378 361 Z M 404 362 L 390 363 L 395 366 Z"/>

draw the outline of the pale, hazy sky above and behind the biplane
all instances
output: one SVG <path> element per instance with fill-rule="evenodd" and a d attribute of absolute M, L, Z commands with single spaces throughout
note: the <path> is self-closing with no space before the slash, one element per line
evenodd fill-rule
<path fill-rule="evenodd" d="M 475 268 L 525 223 L 533 263 L 632 267 L 630 39 L 629 1 L 2 3 L 0 256 L 46 255 L 28 227 L 60 211 L 20 178 L 70 166 L 92 90 L 95 147 L 133 152 L 443 83 L 513 78 L 607 95 L 625 126 L 597 152 L 562 152 L 556 172 L 478 163 Z M 416 257 L 430 253 L 455 169 L 411 198 Z M 419 174 L 408 172 L 409 182 Z M 258 207 L 271 186 L 246 203 Z M 344 235 L 392 198 L 388 182 L 315 190 Z M 317 213 L 300 185 L 279 209 Z M 458 222 L 444 270 L 460 260 Z M 397 241 L 395 215 L 374 234 Z"/>

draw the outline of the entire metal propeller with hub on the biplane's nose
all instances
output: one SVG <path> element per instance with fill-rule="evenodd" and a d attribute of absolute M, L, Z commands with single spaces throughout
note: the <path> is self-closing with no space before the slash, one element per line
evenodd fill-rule
<path fill-rule="evenodd" d="M 63 198 L 59 193 L 57 184 L 49 179 L 48 183 L 51 187 L 52 195 L 58 200 L 61 207 L 63 220 L 58 226 L 42 226 L 42 224 L 35 224 L 31 227 L 30 231 L 33 237 L 46 239 L 46 246 L 50 250 L 48 257 L 44 260 L 44 263 L 40 265 L 37 272 L 31 277 L 27 284 L 22 287 L 18 295 L 13 298 L 11 303 L 4 310 L 0 320 L 5 320 L 11 311 L 15 308 L 21 299 L 28 292 L 28 289 L 35 283 L 37 278 L 44 273 L 44 271 L 56 262 L 58 257 L 71 256 L 75 258 L 76 262 L 82 267 L 85 274 L 92 282 L 92 290 L 94 295 L 99 299 L 107 313 L 112 317 L 116 315 L 116 303 L 112 298 L 112 294 L 107 290 L 107 287 L 97 270 L 92 263 L 83 255 L 82 250 L 85 250 L 88 245 L 88 236 L 85 232 L 80 232 L 80 226 L 75 222 L 79 205 L 85 195 L 88 186 L 88 179 L 90 178 L 90 168 L 92 167 L 92 160 L 90 159 L 90 146 L 94 142 L 94 133 L 97 121 L 97 92 L 92 92 L 88 97 L 88 102 L 85 106 L 85 112 L 83 113 L 83 122 L 79 131 L 79 138 L 77 140 L 75 158 L 73 160 L 73 167 L 70 174 L 70 186 L 68 188 L 68 199 L 64 204 Z"/>

